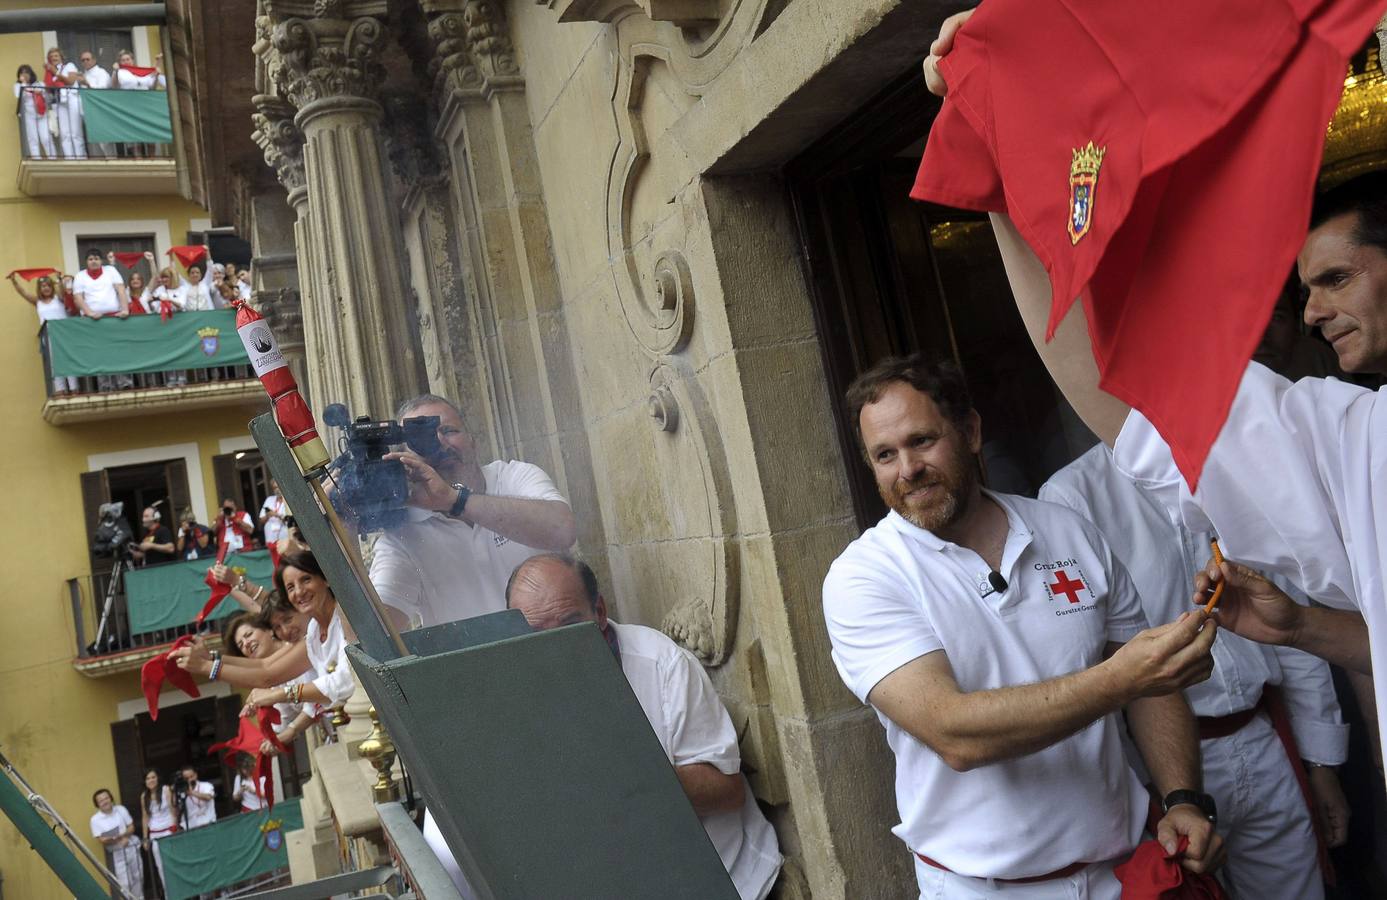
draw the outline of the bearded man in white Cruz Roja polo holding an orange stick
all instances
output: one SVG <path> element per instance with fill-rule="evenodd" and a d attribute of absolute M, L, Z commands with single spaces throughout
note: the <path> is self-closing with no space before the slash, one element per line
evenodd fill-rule
<path fill-rule="evenodd" d="M 981 420 L 957 370 L 886 359 L 849 390 L 892 512 L 824 580 L 834 663 L 896 754 L 895 833 L 921 896 L 1115 899 L 1148 799 L 1157 838 L 1207 871 L 1222 842 L 1179 689 L 1211 670 L 1203 613 L 1146 630 L 1130 578 L 1074 512 L 983 492 Z"/>

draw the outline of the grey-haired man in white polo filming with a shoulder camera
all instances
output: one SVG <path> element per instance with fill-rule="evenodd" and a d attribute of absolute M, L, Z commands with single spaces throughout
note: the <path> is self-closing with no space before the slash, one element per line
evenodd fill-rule
<path fill-rule="evenodd" d="M 505 609 L 506 580 L 541 552 L 573 546 L 573 510 L 538 466 L 477 462 L 462 413 L 442 397 L 401 404 L 397 419 L 438 416 L 431 459 L 388 453 L 409 480 L 409 520 L 376 541 L 370 580 L 401 628 Z"/>

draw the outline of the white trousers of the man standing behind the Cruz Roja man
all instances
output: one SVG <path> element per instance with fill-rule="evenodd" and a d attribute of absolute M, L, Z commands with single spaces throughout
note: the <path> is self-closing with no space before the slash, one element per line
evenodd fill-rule
<path fill-rule="evenodd" d="M 1218 803 L 1233 900 L 1323 900 L 1315 828 L 1291 763 L 1261 713 L 1226 738 L 1200 742 L 1204 790 Z"/>

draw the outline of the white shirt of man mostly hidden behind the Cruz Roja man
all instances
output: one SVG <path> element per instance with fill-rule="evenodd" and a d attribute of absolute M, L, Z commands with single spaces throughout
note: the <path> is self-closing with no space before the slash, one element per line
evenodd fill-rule
<path fill-rule="evenodd" d="M 1160 501 L 1118 470 L 1107 445 L 1097 444 L 1054 473 L 1040 488 L 1040 499 L 1068 506 L 1097 526 L 1132 576 L 1148 621 L 1175 621 L 1193 609 L 1194 573 L 1209 557 L 1214 535 L 1173 520 Z M 1289 584 L 1283 588 L 1294 591 Z M 1196 716 L 1250 710 L 1264 685 L 1279 684 L 1300 754 L 1322 765 L 1348 759 L 1348 725 L 1325 660 L 1232 631 L 1218 632 L 1212 653 L 1214 674 L 1184 689 Z"/>

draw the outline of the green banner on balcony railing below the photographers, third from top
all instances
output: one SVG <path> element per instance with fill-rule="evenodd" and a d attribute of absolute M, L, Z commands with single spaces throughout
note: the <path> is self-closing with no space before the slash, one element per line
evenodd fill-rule
<path fill-rule="evenodd" d="M 186 559 L 147 569 L 132 569 L 125 573 L 125 605 L 130 614 L 130 634 L 147 634 L 164 628 L 186 625 L 197 618 L 203 603 L 212 595 L 207 587 L 207 570 L 216 562 L 208 559 Z M 269 551 L 232 553 L 226 564 L 244 569 L 252 582 L 269 587 L 273 576 L 269 564 Z M 240 605 L 227 596 L 208 618 L 230 616 Z"/>

